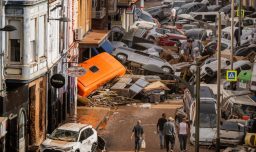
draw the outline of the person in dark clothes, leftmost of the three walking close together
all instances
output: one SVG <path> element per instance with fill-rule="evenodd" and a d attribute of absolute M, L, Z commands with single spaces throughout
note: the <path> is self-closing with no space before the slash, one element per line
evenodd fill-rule
<path fill-rule="evenodd" d="M 162 117 L 158 119 L 157 122 L 157 133 L 159 134 L 159 138 L 160 138 L 160 148 L 163 149 L 164 148 L 164 124 L 167 122 L 166 119 L 166 114 L 163 113 Z"/>

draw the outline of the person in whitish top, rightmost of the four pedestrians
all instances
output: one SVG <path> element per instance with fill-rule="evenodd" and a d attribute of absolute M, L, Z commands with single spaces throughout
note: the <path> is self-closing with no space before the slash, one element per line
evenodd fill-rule
<path fill-rule="evenodd" d="M 187 151 L 187 137 L 189 132 L 189 126 L 186 122 L 186 118 L 182 119 L 182 122 L 178 125 L 179 141 L 180 141 L 180 150 L 182 152 Z"/>

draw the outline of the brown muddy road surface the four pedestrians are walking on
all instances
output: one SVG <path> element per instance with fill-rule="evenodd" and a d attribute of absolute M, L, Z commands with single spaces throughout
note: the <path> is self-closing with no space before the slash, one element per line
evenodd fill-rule
<path fill-rule="evenodd" d="M 164 152 L 160 150 L 159 138 L 156 133 L 156 123 L 164 112 L 167 116 L 174 118 L 175 109 L 181 106 L 181 102 L 164 103 L 152 105 L 151 108 L 142 108 L 140 105 L 122 106 L 113 111 L 113 115 L 108 120 L 105 129 L 99 132 L 107 141 L 107 151 L 109 152 L 128 152 L 133 151 L 134 139 L 131 140 L 132 128 L 137 120 L 142 121 L 145 131 L 146 152 Z M 194 146 L 190 143 L 188 151 L 194 151 Z M 176 137 L 175 152 L 179 151 L 179 141 Z M 207 147 L 201 148 L 200 152 L 211 152 Z"/>

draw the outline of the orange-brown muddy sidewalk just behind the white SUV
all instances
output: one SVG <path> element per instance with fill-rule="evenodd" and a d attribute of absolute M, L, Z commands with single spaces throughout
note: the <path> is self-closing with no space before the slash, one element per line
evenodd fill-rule
<path fill-rule="evenodd" d="M 103 107 L 78 107 L 78 122 L 92 125 L 96 130 L 103 129 L 111 114 L 110 108 Z"/>

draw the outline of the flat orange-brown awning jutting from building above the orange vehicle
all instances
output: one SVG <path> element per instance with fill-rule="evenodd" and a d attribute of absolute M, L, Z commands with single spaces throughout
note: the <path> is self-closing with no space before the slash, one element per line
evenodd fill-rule
<path fill-rule="evenodd" d="M 108 37 L 108 31 L 90 31 L 79 42 L 79 48 L 92 48 L 101 46 Z"/>

